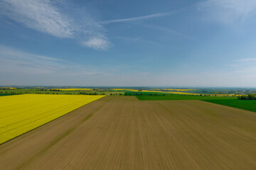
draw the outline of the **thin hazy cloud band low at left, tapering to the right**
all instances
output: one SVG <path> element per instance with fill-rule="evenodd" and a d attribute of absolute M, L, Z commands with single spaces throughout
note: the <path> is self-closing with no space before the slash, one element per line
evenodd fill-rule
<path fill-rule="evenodd" d="M 59 60 L 53 57 L 35 55 L 4 45 L 0 45 L 0 72 L 63 76 L 105 74 L 105 72 L 93 69 L 92 67 Z"/>

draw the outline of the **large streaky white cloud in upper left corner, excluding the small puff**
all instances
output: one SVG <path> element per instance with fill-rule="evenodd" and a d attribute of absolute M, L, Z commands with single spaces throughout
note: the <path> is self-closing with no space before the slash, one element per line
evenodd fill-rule
<path fill-rule="evenodd" d="M 48 0 L 3 0 L 1 10 L 5 16 L 58 38 L 73 37 L 70 19 L 63 16 Z"/>

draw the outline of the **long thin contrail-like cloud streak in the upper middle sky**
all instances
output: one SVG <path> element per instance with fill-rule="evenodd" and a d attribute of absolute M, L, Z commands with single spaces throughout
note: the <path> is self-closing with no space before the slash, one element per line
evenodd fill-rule
<path fill-rule="evenodd" d="M 185 7 L 185 8 L 180 8 L 174 11 L 169 11 L 165 13 L 154 13 L 146 16 L 137 16 L 137 17 L 132 17 L 132 18 L 122 18 L 122 19 L 114 19 L 114 20 L 107 20 L 107 21 L 101 21 L 100 23 L 102 24 L 109 24 L 109 23 L 120 23 L 120 22 L 129 22 L 129 21 L 139 21 L 139 20 L 144 20 L 144 19 L 149 19 L 149 18 L 157 18 L 161 16 L 171 16 L 175 13 L 180 13 L 186 8 L 191 8 L 191 6 Z"/>

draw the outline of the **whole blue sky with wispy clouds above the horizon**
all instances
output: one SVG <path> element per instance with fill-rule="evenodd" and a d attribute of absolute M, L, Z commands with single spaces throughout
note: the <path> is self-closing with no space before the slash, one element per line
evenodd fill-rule
<path fill-rule="evenodd" d="M 256 86 L 255 0 L 0 0 L 0 85 Z"/>

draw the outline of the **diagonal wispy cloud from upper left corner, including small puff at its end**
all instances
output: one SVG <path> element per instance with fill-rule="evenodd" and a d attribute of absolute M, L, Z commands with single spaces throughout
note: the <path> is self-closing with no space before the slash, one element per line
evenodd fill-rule
<path fill-rule="evenodd" d="M 54 4 L 50 0 L 2 0 L 0 15 L 57 38 L 72 38 L 96 50 L 107 49 L 110 42 L 100 23 L 93 20 L 87 13 L 74 17 L 70 11 L 77 13 L 77 10 L 73 10 L 72 7 L 63 11 L 68 5 L 65 4 L 65 7 L 60 8 L 61 4 Z M 91 45 L 90 42 L 95 39 L 101 43 Z"/>

